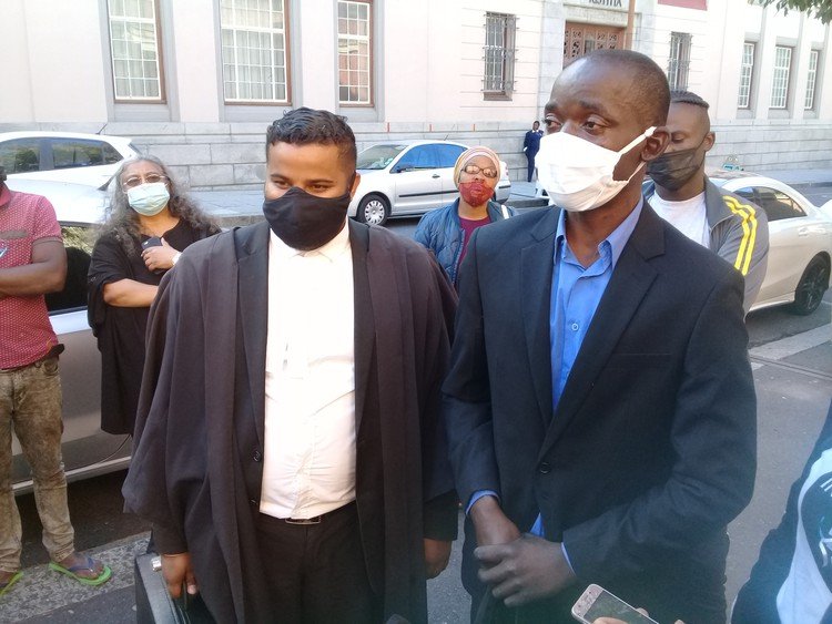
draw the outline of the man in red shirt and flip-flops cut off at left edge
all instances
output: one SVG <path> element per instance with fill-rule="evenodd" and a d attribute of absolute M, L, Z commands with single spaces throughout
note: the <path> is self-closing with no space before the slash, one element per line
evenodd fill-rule
<path fill-rule="evenodd" d="M 22 529 L 12 491 L 12 429 L 32 471 L 50 569 L 84 585 L 112 572 L 75 552 L 61 456 L 63 345 L 43 295 L 63 288 L 67 254 L 61 226 L 45 197 L 11 191 L 0 167 L 0 596 L 23 575 Z"/>

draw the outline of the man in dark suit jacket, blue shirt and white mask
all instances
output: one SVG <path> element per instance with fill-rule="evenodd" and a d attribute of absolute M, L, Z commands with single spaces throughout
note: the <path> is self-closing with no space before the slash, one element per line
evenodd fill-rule
<path fill-rule="evenodd" d="M 660 622 L 724 621 L 755 398 L 741 276 L 641 198 L 668 104 L 642 54 L 569 65 L 538 154 L 556 208 L 469 243 L 444 409 L 463 582 L 495 621 L 571 622 L 588 583 Z"/>

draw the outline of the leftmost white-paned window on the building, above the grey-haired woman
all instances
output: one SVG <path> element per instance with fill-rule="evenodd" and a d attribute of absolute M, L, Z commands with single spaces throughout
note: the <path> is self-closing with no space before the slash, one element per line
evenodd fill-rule
<path fill-rule="evenodd" d="M 155 0 L 108 0 L 115 100 L 162 102 Z"/>

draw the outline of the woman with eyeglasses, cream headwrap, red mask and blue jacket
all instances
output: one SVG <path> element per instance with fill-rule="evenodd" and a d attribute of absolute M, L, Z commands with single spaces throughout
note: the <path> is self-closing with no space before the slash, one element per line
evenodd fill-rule
<path fill-rule="evenodd" d="M 494 201 L 499 177 L 497 154 L 481 145 L 466 150 L 454 165 L 459 197 L 448 206 L 425 213 L 416 227 L 414 238 L 436 254 L 454 287 L 458 288 L 459 265 L 474 231 L 515 214 L 514 208 Z"/>

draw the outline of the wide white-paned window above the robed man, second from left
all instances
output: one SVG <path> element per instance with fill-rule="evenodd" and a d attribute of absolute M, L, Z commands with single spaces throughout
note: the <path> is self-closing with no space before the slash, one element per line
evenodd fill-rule
<path fill-rule="evenodd" d="M 283 0 L 221 0 L 226 102 L 288 103 Z"/>

